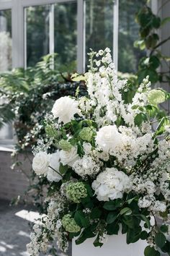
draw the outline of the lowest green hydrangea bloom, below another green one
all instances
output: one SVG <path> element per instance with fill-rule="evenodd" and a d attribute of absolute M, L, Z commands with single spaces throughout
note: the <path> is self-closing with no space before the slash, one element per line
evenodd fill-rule
<path fill-rule="evenodd" d="M 81 230 L 80 226 L 77 225 L 76 221 L 71 218 L 71 214 L 66 214 L 62 219 L 63 228 L 70 233 L 77 233 Z"/>

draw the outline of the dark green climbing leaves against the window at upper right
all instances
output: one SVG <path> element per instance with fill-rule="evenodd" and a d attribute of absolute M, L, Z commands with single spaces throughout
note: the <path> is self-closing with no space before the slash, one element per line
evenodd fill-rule
<path fill-rule="evenodd" d="M 169 70 L 167 72 L 160 72 L 158 67 L 161 67 L 163 62 L 169 66 L 169 59 L 161 53 L 159 46 L 166 43 L 170 36 L 168 35 L 165 40 L 160 40 L 158 36 L 158 29 L 169 22 L 170 17 L 161 20 L 158 14 L 153 14 L 150 7 L 143 6 L 136 14 L 136 21 L 140 25 L 140 38 L 135 41 L 135 46 L 140 50 L 149 50 L 149 56 L 144 56 L 140 59 L 138 67 L 138 81 L 142 82 L 143 78 L 149 75 L 151 82 L 169 82 Z"/>

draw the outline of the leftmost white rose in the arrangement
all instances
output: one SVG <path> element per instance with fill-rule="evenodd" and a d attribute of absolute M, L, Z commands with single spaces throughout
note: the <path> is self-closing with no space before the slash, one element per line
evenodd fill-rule
<path fill-rule="evenodd" d="M 46 152 L 39 152 L 32 161 L 32 169 L 37 175 L 46 175 L 48 172 L 49 155 Z"/>

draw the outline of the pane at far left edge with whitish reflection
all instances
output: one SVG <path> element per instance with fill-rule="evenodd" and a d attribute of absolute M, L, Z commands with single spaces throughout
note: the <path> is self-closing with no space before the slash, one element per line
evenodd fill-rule
<path fill-rule="evenodd" d="M 0 11 L 0 72 L 12 69 L 12 11 Z"/>

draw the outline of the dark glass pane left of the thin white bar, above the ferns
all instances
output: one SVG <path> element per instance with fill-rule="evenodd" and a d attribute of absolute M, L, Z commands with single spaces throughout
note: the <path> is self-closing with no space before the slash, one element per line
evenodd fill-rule
<path fill-rule="evenodd" d="M 49 14 L 50 5 L 26 8 L 27 67 L 49 54 Z"/>

